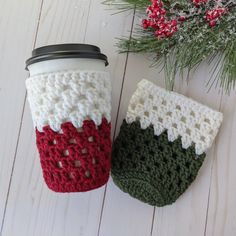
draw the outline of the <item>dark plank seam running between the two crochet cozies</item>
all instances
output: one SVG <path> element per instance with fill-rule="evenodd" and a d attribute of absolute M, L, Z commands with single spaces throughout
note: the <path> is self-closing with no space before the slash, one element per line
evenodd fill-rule
<path fill-rule="evenodd" d="M 131 39 L 132 33 L 133 33 L 135 13 L 136 13 L 136 9 L 134 8 L 133 13 L 132 13 L 133 16 L 132 16 L 132 22 L 131 22 L 130 35 L 129 35 L 130 39 Z M 121 83 L 120 96 L 119 96 L 119 103 L 118 103 L 118 108 L 117 108 L 117 113 L 116 113 L 116 120 L 115 120 L 115 125 L 114 125 L 115 128 L 114 128 L 114 133 L 113 133 L 112 141 L 114 141 L 114 139 L 115 139 L 115 134 L 116 134 L 116 130 L 117 130 L 117 122 L 118 122 L 118 117 L 119 117 L 120 103 L 121 103 L 121 98 L 122 98 L 122 94 L 123 94 L 123 87 L 124 87 L 124 81 L 125 81 L 125 77 L 126 77 L 126 69 L 127 69 L 128 60 L 129 60 L 129 52 L 126 53 L 126 58 L 125 58 L 124 73 L 123 73 L 123 76 L 122 76 L 122 83 Z M 107 184 L 106 184 L 105 190 L 104 190 L 104 196 L 103 196 L 102 209 L 101 209 L 101 214 L 100 214 L 100 219 L 99 219 L 99 226 L 98 226 L 97 236 L 100 235 L 103 210 L 104 210 L 104 205 L 105 205 L 105 200 L 106 200 L 106 190 L 107 190 Z"/>

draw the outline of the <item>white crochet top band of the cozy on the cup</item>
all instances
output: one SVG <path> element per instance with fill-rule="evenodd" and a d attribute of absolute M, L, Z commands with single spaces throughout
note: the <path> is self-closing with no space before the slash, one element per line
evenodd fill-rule
<path fill-rule="evenodd" d="M 54 131 L 72 122 L 76 128 L 90 119 L 100 125 L 111 120 L 111 82 L 107 72 L 62 71 L 26 80 L 34 126 L 39 131 L 49 125 Z"/>

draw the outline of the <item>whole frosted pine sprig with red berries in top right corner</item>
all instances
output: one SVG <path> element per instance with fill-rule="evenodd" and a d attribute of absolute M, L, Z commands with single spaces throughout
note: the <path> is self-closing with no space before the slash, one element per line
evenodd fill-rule
<path fill-rule="evenodd" d="M 202 61 L 213 64 L 211 81 L 230 91 L 236 81 L 235 1 L 220 0 L 124 0 L 143 19 L 130 39 L 118 43 L 120 52 L 152 53 L 153 63 L 163 64 L 166 84 L 174 86 L 177 72 L 192 70 Z M 146 8 L 146 11 L 145 11 Z"/>

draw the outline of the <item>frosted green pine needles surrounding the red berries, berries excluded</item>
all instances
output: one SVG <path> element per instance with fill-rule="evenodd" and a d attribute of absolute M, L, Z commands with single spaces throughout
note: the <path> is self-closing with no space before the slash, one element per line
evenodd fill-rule
<path fill-rule="evenodd" d="M 165 0 L 167 9 L 174 9 L 173 16 L 179 11 L 188 13 L 192 4 L 188 0 Z M 209 4 L 213 3 L 210 2 Z M 119 10 L 140 9 L 146 17 L 145 8 L 149 0 L 105 1 Z M 169 38 L 158 39 L 153 29 L 135 29 L 133 36 L 119 39 L 117 46 L 121 53 L 148 53 L 153 55 L 152 66 L 162 65 L 165 72 L 166 86 L 174 86 L 176 74 L 181 75 L 197 68 L 203 61 L 213 65 L 208 87 L 220 86 L 229 92 L 236 84 L 236 4 L 228 1 L 227 14 L 223 15 L 215 27 L 209 27 L 204 19 L 204 12 L 195 12 L 186 17 L 179 30 Z M 206 10 L 206 9 L 205 9 Z M 176 13 L 177 12 L 177 13 Z"/>

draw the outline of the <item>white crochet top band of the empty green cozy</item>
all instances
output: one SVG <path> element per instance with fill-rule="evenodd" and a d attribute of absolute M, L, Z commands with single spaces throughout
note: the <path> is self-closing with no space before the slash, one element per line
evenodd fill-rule
<path fill-rule="evenodd" d="M 136 120 L 140 121 L 142 129 L 153 125 L 157 136 L 167 130 L 170 142 L 180 136 L 185 149 L 195 144 L 196 154 L 200 155 L 212 145 L 223 115 L 142 80 L 131 98 L 126 116 L 127 123 Z"/>

